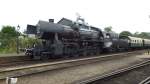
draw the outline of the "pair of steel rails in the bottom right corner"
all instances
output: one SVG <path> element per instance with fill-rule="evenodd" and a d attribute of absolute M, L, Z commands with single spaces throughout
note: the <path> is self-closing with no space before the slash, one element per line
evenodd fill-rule
<path fill-rule="evenodd" d="M 127 68 L 119 69 L 119 70 L 116 70 L 116 71 L 111 72 L 111 73 L 106 73 L 104 75 L 98 75 L 98 76 L 95 76 L 95 77 L 91 77 L 91 78 L 87 78 L 87 79 L 84 79 L 84 80 L 76 81 L 73 84 L 116 84 L 116 83 L 111 82 L 112 80 L 110 80 L 110 79 L 113 79 L 113 78 L 116 78 L 116 77 L 119 78 L 119 77 L 122 76 L 122 74 L 128 73 L 132 70 L 137 70 L 139 68 L 142 68 L 142 67 L 145 67 L 145 66 L 148 66 L 148 65 L 150 65 L 150 60 L 141 62 L 139 64 L 132 65 L 132 66 L 127 67 Z M 119 79 L 116 78 L 115 80 L 118 81 Z M 109 83 L 107 83 L 108 81 L 109 81 Z M 126 84 L 126 83 L 119 82 L 118 84 Z M 127 83 L 127 84 L 130 84 L 130 83 Z M 147 77 L 146 79 L 141 81 L 139 84 L 150 84 L 150 77 Z"/>

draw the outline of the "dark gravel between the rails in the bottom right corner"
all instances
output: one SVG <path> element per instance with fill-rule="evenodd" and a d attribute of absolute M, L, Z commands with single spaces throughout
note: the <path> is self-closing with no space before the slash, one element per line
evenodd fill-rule
<path fill-rule="evenodd" d="M 89 84 L 139 84 L 150 76 L 150 65 L 122 73 L 105 80 L 97 80 Z"/>

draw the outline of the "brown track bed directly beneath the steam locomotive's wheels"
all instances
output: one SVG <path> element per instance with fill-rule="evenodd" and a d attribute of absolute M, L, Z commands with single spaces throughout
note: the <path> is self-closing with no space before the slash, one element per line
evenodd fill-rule
<path fill-rule="evenodd" d="M 133 51 L 136 52 L 136 51 Z M 128 52 L 125 52 L 128 53 Z M 130 53 L 130 52 L 129 52 Z M 111 55 L 114 53 L 107 53 L 107 54 L 101 54 L 103 55 Z M 117 53 L 119 54 L 119 53 Z M 93 57 L 93 56 L 89 56 Z M 96 56 L 94 56 L 96 57 Z M 49 60 L 31 60 L 29 57 L 21 56 L 21 57 L 1 57 L 0 58 L 0 67 L 9 67 L 9 66 L 16 66 L 16 65 L 21 65 L 21 64 L 34 64 L 34 63 L 46 63 L 46 62 L 56 62 L 56 61 L 63 61 L 63 60 L 73 60 L 73 59 L 83 59 L 83 58 L 88 58 L 86 56 L 83 57 L 72 57 L 72 58 L 59 58 L 59 59 L 49 59 Z"/>

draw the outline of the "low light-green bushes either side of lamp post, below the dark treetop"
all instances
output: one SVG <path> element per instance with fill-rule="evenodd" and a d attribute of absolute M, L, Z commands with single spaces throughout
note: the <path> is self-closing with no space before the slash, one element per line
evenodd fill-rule
<path fill-rule="evenodd" d="M 23 37 L 19 38 L 19 48 L 24 49 L 28 47 L 32 47 L 33 43 L 35 43 L 37 39 Z M 2 45 L 0 47 L 0 53 L 15 53 L 17 51 L 17 39 L 3 39 Z"/>

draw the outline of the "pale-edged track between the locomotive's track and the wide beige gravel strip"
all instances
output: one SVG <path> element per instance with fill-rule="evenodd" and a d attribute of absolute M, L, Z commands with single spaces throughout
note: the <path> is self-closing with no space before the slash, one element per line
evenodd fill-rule
<path fill-rule="evenodd" d="M 113 58 L 116 58 L 116 56 L 125 57 L 125 56 L 128 56 L 129 54 L 135 54 L 135 52 L 136 51 L 113 54 L 113 55 L 88 57 L 88 58 L 82 58 L 82 59 L 72 59 L 72 60 L 63 60 L 63 61 L 57 61 L 57 62 L 32 64 L 32 65 L 26 65 L 26 66 L 16 66 L 16 67 L 4 68 L 4 69 L 1 68 L 0 79 L 5 79 L 6 77 L 19 77 L 19 76 L 39 73 L 43 71 L 50 71 L 50 70 L 57 70 L 57 69 L 68 68 L 68 67 L 73 67 L 73 66 L 79 66 L 79 65 L 83 65 L 87 63 L 113 59 Z M 136 53 L 136 54 L 140 54 L 141 52 Z"/>

